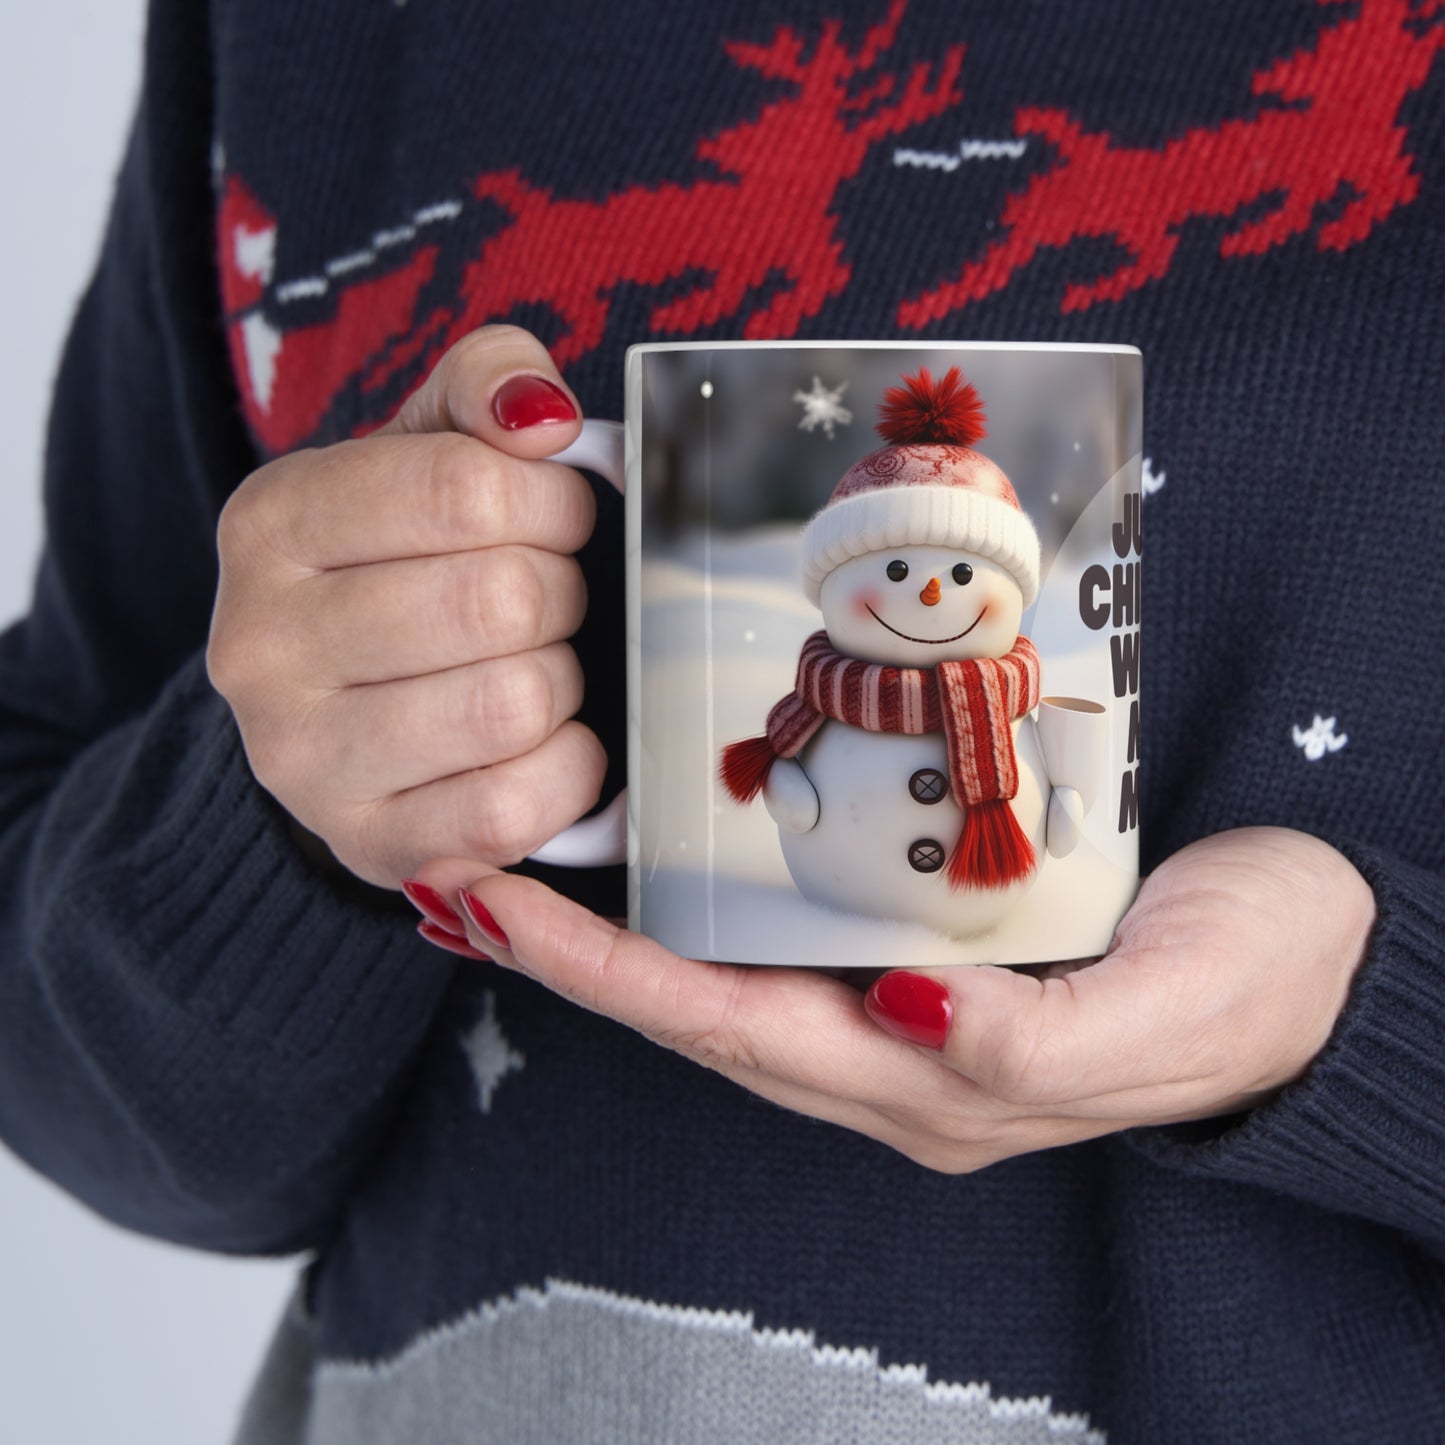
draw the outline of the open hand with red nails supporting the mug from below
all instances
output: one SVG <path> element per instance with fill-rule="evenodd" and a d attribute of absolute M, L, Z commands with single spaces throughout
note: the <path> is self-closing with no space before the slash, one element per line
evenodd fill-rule
<path fill-rule="evenodd" d="M 1328 844 L 1247 828 L 1160 866 L 1097 962 L 887 972 L 864 998 L 678 958 L 529 879 L 455 860 L 422 876 L 471 948 L 946 1172 L 1263 1103 L 1324 1046 L 1374 922 Z"/>

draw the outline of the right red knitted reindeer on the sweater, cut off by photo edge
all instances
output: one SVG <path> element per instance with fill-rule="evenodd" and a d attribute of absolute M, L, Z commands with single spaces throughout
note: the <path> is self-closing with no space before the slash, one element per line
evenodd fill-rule
<path fill-rule="evenodd" d="M 1129 260 L 1098 280 L 1068 286 L 1064 311 L 1118 301 L 1166 275 L 1186 221 L 1231 217 L 1266 197 L 1277 198 L 1273 210 L 1230 231 L 1221 256 L 1257 256 L 1308 231 L 1316 208 L 1347 186 L 1353 197 L 1319 227 L 1316 246 L 1344 250 L 1364 240 L 1419 192 L 1397 117 L 1445 46 L 1445 26 L 1422 29 L 1445 0 L 1425 0 L 1419 9 L 1409 0 L 1358 3 L 1358 13 L 1322 30 L 1312 49 L 1254 74 L 1251 92 L 1277 98 L 1277 108 L 1186 130 L 1159 149 L 1118 146 L 1061 110 L 1022 108 L 1019 133 L 1052 142 L 1059 163 L 1009 198 L 1006 234 L 955 282 L 905 301 L 899 324 L 925 327 L 981 301 L 1040 250 L 1081 237 L 1111 237 Z"/>

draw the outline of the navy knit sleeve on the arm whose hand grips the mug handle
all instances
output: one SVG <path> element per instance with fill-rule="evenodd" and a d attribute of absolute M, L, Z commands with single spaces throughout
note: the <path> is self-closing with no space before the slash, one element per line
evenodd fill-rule
<path fill-rule="evenodd" d="M 314 870 L 204 644 L 256 465 L 217 315 L 205 6 L 146 82 L 56 383 L 46 545 L 0 637 L 0 1139 L 182 1243 L 315 1243 L 449 978 L 392 894 Z"/>

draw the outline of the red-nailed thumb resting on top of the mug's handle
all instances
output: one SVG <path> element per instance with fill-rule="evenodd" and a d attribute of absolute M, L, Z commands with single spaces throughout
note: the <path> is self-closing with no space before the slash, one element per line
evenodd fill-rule
<path fill-rule="evenodd" d="M 436 363 L 381 432 L 462 432 L 536 460 L 569 445 L 582 409 L 545 345 L 520 327 L 483 327 Z"/>

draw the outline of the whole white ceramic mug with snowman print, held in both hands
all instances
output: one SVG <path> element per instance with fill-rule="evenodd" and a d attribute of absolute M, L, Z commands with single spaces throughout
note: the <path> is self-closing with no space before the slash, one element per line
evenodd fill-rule
<path fill-rule="evenodd" d="M 1139 883 L 1131 347 L 633 347 L 629 793 L 601 861 L 679 954 L 1100 954 Z M 620 452 L 626 451 L 623 458 Z"/>

